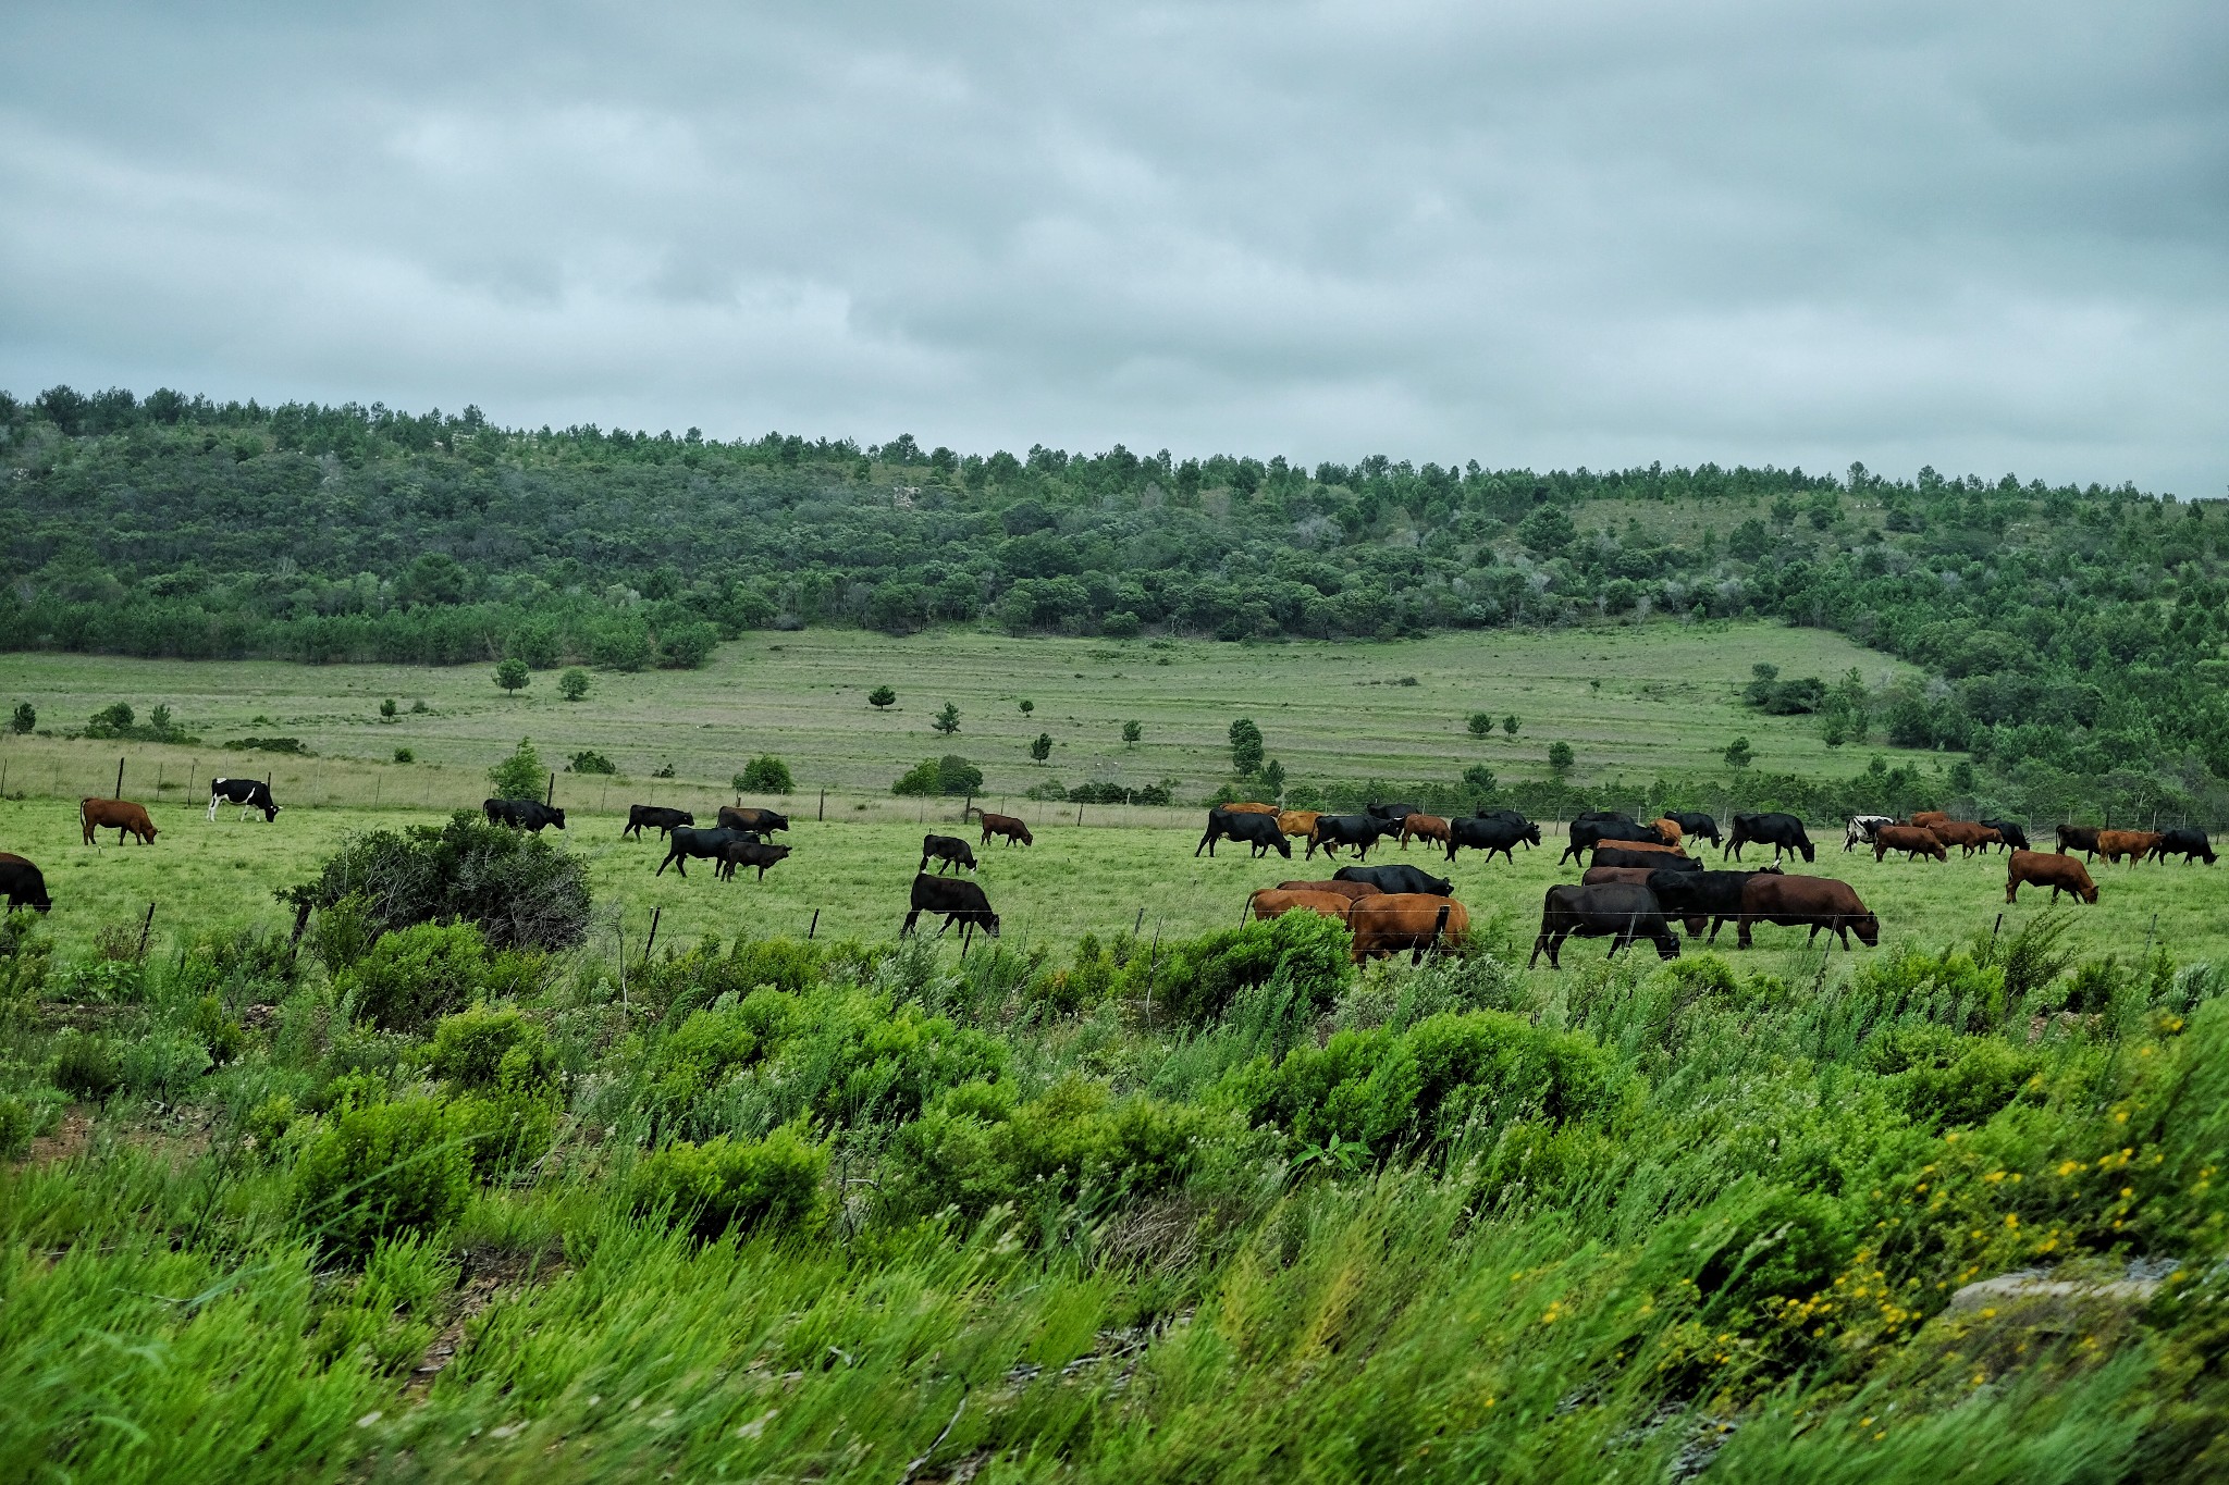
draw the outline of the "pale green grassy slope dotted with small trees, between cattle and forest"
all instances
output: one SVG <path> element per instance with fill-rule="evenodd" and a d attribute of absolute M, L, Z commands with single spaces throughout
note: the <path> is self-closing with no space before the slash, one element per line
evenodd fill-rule
<path fill-rule="evenodd" d="M 580 750 L 609 755 L 644 788 L 724 788 L 742 761 L 773 753 L 798 784 L 847 797 L 887 795 L 923 757 L 963 753 L 990 795 L 1019 797 L 1048 777 L 1130 786 L 1177 779 L 1179 797 L 1208 793 L 1228 773 L 1226 730 L 1253 717 L 1268 755 L 1295 779 L 1453 779 L 1469 764 L 1502 777 L 1547 773 L 1547 746 L 1569 741 L 1576 779 L 1649 777 L 1714 768 L 1736 735 L 1761 768 L 1848 770 L 1805 717 L 1763 717 L 1739 704 L 1750 666 L 1834 679 L 1859 668 L 1884 684 L 1908 668 L 1823 630 L 1763 623 L 1649 623 L 1565 632 L 1440 635 L 1395 643 L 1226 646 L 1206 641 L 1005 639 L 938 630 L 892 639 L 858 630 L 758 632 L 720 646 L 702 670 L 597 675 L 586 701 L 555 695 L 537 672 L 522 695 L 493 684 L 493 666 L 288 666 L 276 661 L 134 661 L 87 655 L 0 657 L 0 701 L 27 699 L 49 730 L 82 728 L 111 701 L 145 715 L 169 704 L 212 746 L 62 746 L 11 739 L 7 793 L 78 797 L 156 781 L 174 793 L 210 770 L 265 775 L 312 804 L 477 804 L 484 770 L 522 735 L 553 766 Z M 1413 686 L 1409 684 L 1413 679 Z M 892 686 L 878 712 L 867 692 Z M 379 701 L 401 715 L 381 721 Z M 1034 704 L 1032 712 L 1021 701 Z M 428 710 L 412 712 L 419 701 Z M 961 708 L 961 732 L 929 730 Z M 1520 721 L 1516 739 L 1469 737 L 1471 712 Z M 1143 739 L 1121 741 L 1123 721 Z M 1045 766 L 1030 739 L 1054 739 Z M 225 753 L 236 737 L 299 737 L 314 759 Z M 417 764 L 390 764 L 410 748 Z M 671 766 L 673 779 L 651 781 Z M 600 779 L 562 779 L 559 804 L 604 797 Z"/>

